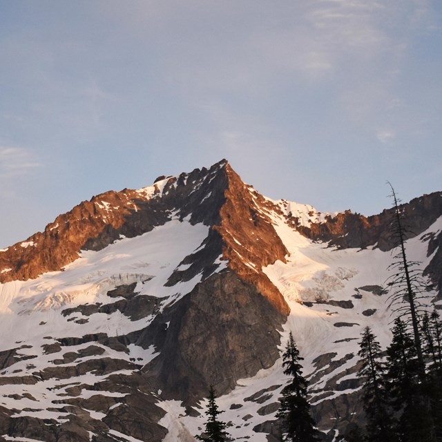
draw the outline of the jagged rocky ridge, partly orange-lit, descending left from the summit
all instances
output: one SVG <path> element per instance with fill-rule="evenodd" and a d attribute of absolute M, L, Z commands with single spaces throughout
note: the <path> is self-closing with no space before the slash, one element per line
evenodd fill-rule
<path fill-rule="evenodd" d="M 122 236 L 133 238 L 172 218 L 192 224 L 218 220 L 227 185 L 224 160 L 208 169 L 168 177 L 140 190 L 109 191 L 59 215 L 37 232 L 0 252 L 0 281 L 27 280 L 57 271 L 79 258 L 80 250 L 99 250 Z"/>

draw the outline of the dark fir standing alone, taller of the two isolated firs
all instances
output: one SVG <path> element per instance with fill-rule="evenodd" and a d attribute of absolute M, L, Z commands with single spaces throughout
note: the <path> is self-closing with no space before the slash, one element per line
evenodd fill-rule
<path fill-rule="evenodd" d="M 298 348 L 293 335 L 289 334 L 289 342 L 282 355 L 284 374 L 290 376 L 289 383 L 282 390 L 280 409 L 276 416 L 282 420 L 283 441 L 316 442 L 317 430 L 310 414 L 307 401 L 307 381 L 302 376 L 302 367 Z"/>

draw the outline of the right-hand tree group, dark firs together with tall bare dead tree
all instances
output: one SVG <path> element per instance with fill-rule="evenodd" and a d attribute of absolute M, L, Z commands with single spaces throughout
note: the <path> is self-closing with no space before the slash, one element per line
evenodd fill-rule
<path fill-rule="evenodd" d="M 390 183 L 389 183 L 390 184 Z M 360 342 L 365 434 L 356 430 L 347 442 L 442 442 L 442 323 L 427 311 L 428 291 L 420 263 L 408 259 L 405 239 L 413 236 L 403 207 L 393 198 L 390 307 L 396 320 L 384 361 L 381 346 L 367 327 Z"/>

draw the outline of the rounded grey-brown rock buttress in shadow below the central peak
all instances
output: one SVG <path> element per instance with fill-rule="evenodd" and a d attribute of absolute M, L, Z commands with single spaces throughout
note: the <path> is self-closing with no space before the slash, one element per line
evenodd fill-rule
<path fill-rule="evenodd" d="M 227 393 L 238 379 L 275 363 L 284 322 L 285 315 L 253 285 L 233 271 L 215 273 L 157 316 L 140 337 L 155 336 L 160 351 L 146 369 L 155 373 L 166 398 L 193 402 L 211 384 Z"/>

